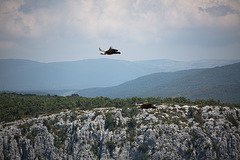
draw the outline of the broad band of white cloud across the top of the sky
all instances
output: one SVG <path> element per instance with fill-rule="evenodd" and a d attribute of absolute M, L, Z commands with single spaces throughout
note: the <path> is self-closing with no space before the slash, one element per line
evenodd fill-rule
<path fill-rule="evenodd" d="M 43 2 L 2 2 L 1 31 L 34 37 L 64 28 L 92 37 L 145 39 L 169 28 L 237 27 L 240 20 L 240 2 L 234 0 L 68 0 L 50 6 Z"/>

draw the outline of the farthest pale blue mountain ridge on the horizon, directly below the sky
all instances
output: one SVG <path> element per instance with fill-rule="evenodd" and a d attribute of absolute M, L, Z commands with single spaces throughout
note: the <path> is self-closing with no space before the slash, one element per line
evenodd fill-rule
<path fill-rule="evenodd" d="M 109 87 L 156 72 L 209 68 L 240 60 L 125 61 L 87 59 L 72 62 L 41 63 L 20 59 L 0 60 L 0 90 L 76 90 Z M 70 93 L 71 91 L 69 91 Z"/>

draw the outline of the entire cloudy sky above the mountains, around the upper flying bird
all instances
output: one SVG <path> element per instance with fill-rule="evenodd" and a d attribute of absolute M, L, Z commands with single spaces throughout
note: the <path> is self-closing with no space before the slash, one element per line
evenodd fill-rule
<path fill-rule="evenodd" d="M 240 0 L 0 0 L 8 58 L 240 59 Z"/>

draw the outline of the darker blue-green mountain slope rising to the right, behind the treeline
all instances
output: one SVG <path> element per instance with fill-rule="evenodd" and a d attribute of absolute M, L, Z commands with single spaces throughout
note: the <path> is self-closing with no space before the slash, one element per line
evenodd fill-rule
<path fill-rule="evenodd" d="M 240 103 L 240 63 L 209 69 L 154 73 L 118 86 L 85 89 L 77 93 L 87 97 L 111 98 L 183 96 Z"/>

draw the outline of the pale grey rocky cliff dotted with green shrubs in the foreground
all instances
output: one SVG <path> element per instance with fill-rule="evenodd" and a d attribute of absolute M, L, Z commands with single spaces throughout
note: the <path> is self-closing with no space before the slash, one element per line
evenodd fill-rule
<path fill-rule="evenodd" d="M 240 109 L 66 110 L 0 125 L 0 159 L 240 159 Z"/>

